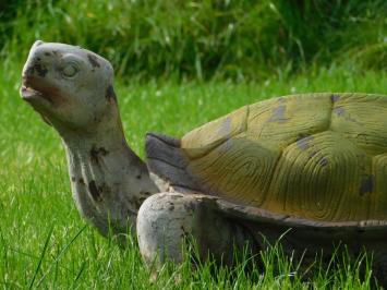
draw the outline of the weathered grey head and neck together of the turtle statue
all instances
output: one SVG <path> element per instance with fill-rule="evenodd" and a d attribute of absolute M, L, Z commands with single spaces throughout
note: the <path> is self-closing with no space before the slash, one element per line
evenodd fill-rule
<path fill-rule="evenodd" d="M 135 231 L 141 204 L 158 189 L 124 140 L 117 102 L 111 101 L 111 64 L 74 46 L 38 44 L 25 64 L 21 94 L 63 138 L 77 209 L 102 234 L 109 223 L 117 234 L 126 233 L 128 227 Z M 57 65 L 65 61 L 76 62 L 71 80 Z"/>

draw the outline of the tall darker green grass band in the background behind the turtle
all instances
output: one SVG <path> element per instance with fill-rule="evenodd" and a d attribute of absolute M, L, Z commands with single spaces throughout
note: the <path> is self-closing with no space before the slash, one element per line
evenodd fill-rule
<path fill-rule="evenodd" d="M 262 80 L 311 63 L 387 65 L 384 0 L 8 0 L 2 5 L 2 55 L 12 61 L 24 59 L 41 38 L 95 50 L 113 62 L 118 75 L 132 78 Z"/>

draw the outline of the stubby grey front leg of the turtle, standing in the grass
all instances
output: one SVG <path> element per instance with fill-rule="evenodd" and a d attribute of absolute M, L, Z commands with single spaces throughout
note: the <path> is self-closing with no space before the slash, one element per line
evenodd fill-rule
<path fill-rule="evenodd" d="M 258 251 L 247 229 L 225 217 L 214 197 L 201 194 L 159 193 L 148 197 L 138 212 L 137 237 L 143 258 L 157 267 L 167 261 L 182 263 L 188 237 L 196 242 L 202 261 L 210 254 L 222 265 L 235 262 L 235 249 Z"/>

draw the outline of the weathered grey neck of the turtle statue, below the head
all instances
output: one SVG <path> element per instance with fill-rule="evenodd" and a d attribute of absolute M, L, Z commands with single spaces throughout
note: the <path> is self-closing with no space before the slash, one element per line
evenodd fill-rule
<path fill-rule="evenodd" d="M 119 122 L 121 125 L 121 122 Z M 158 189 L 146 165 L 128 146 L 121 128 L 108 123 L 90 134 L 60 132 L 73 198 L 81 215 L 106 235 L 135 230 L 137 210 Z"/>

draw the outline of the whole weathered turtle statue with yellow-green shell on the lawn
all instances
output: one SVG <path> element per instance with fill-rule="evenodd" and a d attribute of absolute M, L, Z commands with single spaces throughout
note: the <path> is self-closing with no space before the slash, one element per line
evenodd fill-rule
<path fill-rule="evenodd" d="M 257 253 L 281 237 L 285 253 L 312 258 L 366 247 L 387 276 L 386 96 L 259 101 L 182 138 L 147 134 L 145 164 L 126 144 L 109 61 L 38 40 L 22 77 L 23 99 L 63 141 L 81 215 L 105 235 L 131 228 L 145 262 L 181 262 L 188 235 L 225 264 L 234 246 Z"/>

